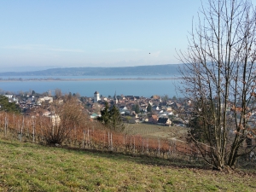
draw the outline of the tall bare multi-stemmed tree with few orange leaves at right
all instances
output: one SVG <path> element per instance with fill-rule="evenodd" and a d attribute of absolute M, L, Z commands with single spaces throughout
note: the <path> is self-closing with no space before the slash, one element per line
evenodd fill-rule
<path fill-rule="evenodd" d="M 236 165 L 255 134 L 256 14 L 247 0 L 208 0 L 198 18 L 187 51 L 178 53 L 180 90 L 194 103 L 191 141 L 222 170 Z"/>

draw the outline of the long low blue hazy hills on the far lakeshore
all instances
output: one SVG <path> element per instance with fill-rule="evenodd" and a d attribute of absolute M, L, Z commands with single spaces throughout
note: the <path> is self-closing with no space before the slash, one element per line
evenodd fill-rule
<path fill-rule="evenodd" d="M 179 64 L 137 67 L 69 67 L 31 72 L 6 72 L 0 76 L 96 76 L 96 75 L 177 75 Z"/>

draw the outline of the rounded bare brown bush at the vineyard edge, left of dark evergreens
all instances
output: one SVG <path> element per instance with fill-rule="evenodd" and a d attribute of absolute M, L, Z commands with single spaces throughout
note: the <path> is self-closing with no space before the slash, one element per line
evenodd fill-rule
<path fill-rule="evenodd" d="M 50 115 L 44 118 L 41 131 L 47 143 L 61 144 L 67 139 L 76 139 L 79 129 L 88 121 L 78 99 L 73 96 L 65 96 L 64 102 L 56 100 L 49 105 Z"/>

